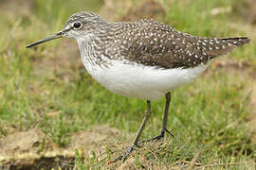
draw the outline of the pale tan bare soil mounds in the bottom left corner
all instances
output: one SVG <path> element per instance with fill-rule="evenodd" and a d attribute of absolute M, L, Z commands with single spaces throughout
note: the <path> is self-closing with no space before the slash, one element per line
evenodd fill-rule
<path fill-rule="evenodd" d="M 0 142 L 0 169 L 71 168 L 75 149 L 90 157 L 92 152 L 105 157 L 105 147 L 115 143 L 119 130 L 106 126 L 94 127 L 74 134 L 66 147 L 53 144 L 40 128 L 9 134 Z"/>

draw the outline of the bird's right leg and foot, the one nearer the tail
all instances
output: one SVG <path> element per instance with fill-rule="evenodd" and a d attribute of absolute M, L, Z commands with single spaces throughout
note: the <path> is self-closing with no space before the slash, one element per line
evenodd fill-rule
<path fill-rule="evenodd" d="M 166 93 L 165 98 L 166 98 L 166 102 L 165 102 L 165 110 L 164 110 L 164 114 L 163 114 L 163 125 L 162 125 L 160 134 L 158 136 L 155 136 L 154 138 L 149 139 L 149 140 L 142 140 L 139 142 L 139 144 L 159 140 L 164 137 L 165 132 L 169 133 L 171 136 L 174 137 L 174 134 L 166 128 L 167 127 L 167 118 L 168 118 L 168 113 L 169 113 L 169 106 L 170 106 L 170 102 L 171 102 L 171 93 L 170 92 Z"/>

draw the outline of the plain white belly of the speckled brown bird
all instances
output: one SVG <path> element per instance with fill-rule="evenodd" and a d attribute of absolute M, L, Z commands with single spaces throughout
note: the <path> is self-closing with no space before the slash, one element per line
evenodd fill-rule
<path fill-rule="evenodd" d="M 155 100 L 167 92 L 192 82 L 207 65 L 189 69 L 160 69 L 151 66 L 124 64 L 111 61 L 112 66 L 90 67 L 84 63 L 87 72 L 103 87 L 113 93 L 141 99 Z"/>

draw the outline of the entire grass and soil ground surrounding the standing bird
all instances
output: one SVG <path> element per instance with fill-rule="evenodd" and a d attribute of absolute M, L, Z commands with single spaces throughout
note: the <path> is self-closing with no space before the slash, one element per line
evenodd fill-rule
<path fill-rule="evenodd" d="M 0 169 L 255 169 L 256 16 L 253 0 L 0 3 Z M 76 43 L 26 44 L 60 30 L 75 11 L 107 21 L 155 20 L 196 36 L 248 36 L 250 44 L 217 59 L 173 93 L 175 137 L 131 144 L 145 102 L 103 89 L 85 72 Z M 164 100 L 153 103 L 143 138 L 159 133 Z"/>

